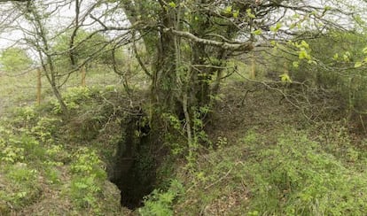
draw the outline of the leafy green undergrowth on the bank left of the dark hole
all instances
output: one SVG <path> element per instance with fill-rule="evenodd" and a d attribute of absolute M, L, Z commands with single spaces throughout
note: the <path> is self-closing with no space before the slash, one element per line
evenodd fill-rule
<path fill-rule="evenodd" d="M 107 93 L 105 89 L 70 89 L 66 100 L 74 119 L 90 107 L 105 108 L 98 98 Z M 90 107 L 83 101 L 88 101 Z M 32 214 L 47 199 L 53 200 L 52 205 L 57 207 L 52 210 L 52 206 L 43 206 L 43 213 L 118 214 L 119 192 L 107 180 L 105 162 L 101 159 L 108 158 L 104 153 L 112 154 L 108 149 L 113 148 L 109 142 L 113 137 L 105 135 L 110 126 L 105 125 L 105 131 L 100 131 L 101 121 L 92 118 L 110 118 L 110 113 L 100 109 L 81 120 L 82 123 L 90 120 L 88 128 L 93 129 L 90 133 L 97 137 L 86 146 L 88 142 L 79 135 L 81 131 L 67 133 L 75 127 L 74 122 L 62 120 L 57 110 L 58 105 L 52 102 L 39 107 L 25 106 L 0 120 L 0 215 Z M 115 125 L 115 121 L 110 120 L 110 124 Z M 99 143 L 99 136 L 108 146 Z"/>

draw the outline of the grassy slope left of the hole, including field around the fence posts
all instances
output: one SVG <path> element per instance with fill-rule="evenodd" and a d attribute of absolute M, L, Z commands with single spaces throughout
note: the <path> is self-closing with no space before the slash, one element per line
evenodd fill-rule
<path fill-rule="evenodd" d="M 117 119 L 93 133 L 112 116 L 103 98 L 117 98 L 105 87 L 116 81 L 113 73 L 91 73 L 93 89 L 65 91 L 74 117 L 63 122 L 45 81 L 36 107 L 34 74 L 1 78 L 0 215 L 121 214 L 120 191 L 107 181 L 103 160 L 119 138 Z"/>

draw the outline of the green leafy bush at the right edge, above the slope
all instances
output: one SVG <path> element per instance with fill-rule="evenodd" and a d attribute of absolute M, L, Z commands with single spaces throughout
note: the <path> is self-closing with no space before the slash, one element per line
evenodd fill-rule
<path fill-rule="evenodd" d="M 308 85 L 334 92 L 338 96 L 338 105 L 349 119 L 354 114 L 365 114 L 367 76 L 362 65 L 357 65 L 365 58 L 363 48 L 366 42 L 363 34 L 338 31 L 309 39 L 311 55 L 318 63 L 303 61 L 294 67 L 289 62 L 293 80 L 307 81 Z"/>

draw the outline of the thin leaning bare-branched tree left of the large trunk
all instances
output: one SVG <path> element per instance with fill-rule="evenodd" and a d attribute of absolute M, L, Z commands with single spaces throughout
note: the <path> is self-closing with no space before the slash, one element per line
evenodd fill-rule
<path fill-rule="evenodd" d="M 17 16 L 19 18 L 17 21 L 21 23 L 20 25 L 13 25 L 9 28 L 21 31 L 25 35 L 21 42 L 26 43 L 38 54 L 43 73 L 51 85 L 54 96 L 56 96 L 59 101 L 61 111 L 64 113 L 64 118 L 67 118 L 68 109 L 61 95 L 60 88 L 66 83 L 70 74 L 79 71 L 82 66 L 85 66 L 90 60 L 96 58 L 108 43 L 104 41 L 105 44 L 100 46 L 95 46 L 94 44 L 92 48 L 89 48 L 92 52 L 84 53 L 84 55 L 82 54 L 83 59 L 80 61 L 77 59 L 77 55 L 85 51 L 82 50 L 81 47 L 99 32 L 98 30 L 91 32 L 89 35 L 85 35 L 85 38 L 82 40 L 77 40 L 78 33 L 81 32 L 81 27 L 84 25 L 83 23 L 85 22 L 86 16 L 90 12 L 80 12 L 82 0 L 76 0 L 66 4 L 61 2 L 55 3 L 54 1 L 27 1 L 27 4 L 24 4 L 24 1 L 9 2 L 12 2 L 13 7 L 17 9 Z M 71 19 L 71 24 L 59 27 L 57 31 L 51 31 L 51 27 L 54 26 L 54 23 L 52 23 L 52 21 L 54 21 L 53 16 L 62 8 L 65 9 L 67 5 L 74 7 L 75 11 L 74 19 Z M 53 46 L 55 38 L 60 38 L 59 35 L 67 34 L 70 36 L 64 36 L 64 39 L 69 39 L 68 42 L 66 42 L 68 46 L 61 46 L 59 50 L 58 47 Z M 70 59 L 71 67 L 58 68 L 60 58 L 66 55 Z"/>

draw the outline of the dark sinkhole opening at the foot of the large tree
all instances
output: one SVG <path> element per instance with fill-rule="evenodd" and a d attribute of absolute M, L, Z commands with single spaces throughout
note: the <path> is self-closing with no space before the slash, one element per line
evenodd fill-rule
<path fill-rule="evenodd" d="M 121 124 L 122 138 L 109 172 L 110 181 L 121 190 L 121 205 L 131 210 L 143 205 L 155 182 L 150 128 L 142 120 L 144 113 L 138 109 Z"/>

